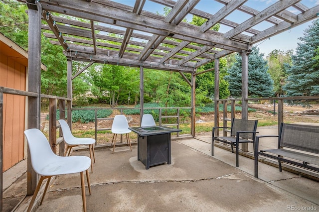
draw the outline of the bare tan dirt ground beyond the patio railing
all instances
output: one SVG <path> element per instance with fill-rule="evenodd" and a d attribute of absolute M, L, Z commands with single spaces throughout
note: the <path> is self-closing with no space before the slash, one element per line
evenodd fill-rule
<path fill-rule="evenodd" d="M 274 111 L 273 104 L 250 104 L 250 108 L 255 108 L 255 112 L 249 112 L 249 119 L 258 119 L 260 122 L 269 122 L 277 123 L 278 116 L 273 115 Z M 277 112 L 278 106 L 275 106 L 275 111 Z M 118 110 L 114 110 L 111 117 L 120 114 Z M 228 114 L 230 117 L 230 113 Z M 241 117 L 240 113 L 236 113 L 236 117 Z M 129 115 L 127 116 L 129 121 L 129 126 L 139 126 L 140 124 L 140 115 Z M 221 114 L 222 118 L 222 114 Z M 196 126 L 203 126 L 211 129 L 214 125 L 214 113 L 201 113 L 197 114 L 195 117 Z M 284 106 L 284 120 L 285 122 L 295 123 L 295 122 L 316 122 L 319 123 L 319 105 L 315 105 L 312 108 L 305 108 L 302 106 Z M 222 119 L 221 119 L 222 121 Z M 189 119 L 185 120 L 185 123 L 189 124 Z M 222 124 L 222 122 L 220 122 Z M 111 128 L 112 120 L 100 120 L 97 123 L 98 129 Z M 94 137 L 95 123 L 81 123 L 76 122 L 72 123 L 72 131 L 75 136 L 92 136 Z M 184 132 L 187 134 L 187 132 Z M 188 132 L 189 133 L 189 132 Z M 210 133 L 210 132 L 198 132 L 198 133 Z M 111 130 L 98 131 L 97 142 L 98 144 L 111 143 L 113 134 Z M 130 133 L 131 142 L 137 142 L 137 135 L 135 133 Z M 120 141 L 118 136 L 117 142 Z M 123 142 L 126 142 L 125 136 L 123 136 Z"/>

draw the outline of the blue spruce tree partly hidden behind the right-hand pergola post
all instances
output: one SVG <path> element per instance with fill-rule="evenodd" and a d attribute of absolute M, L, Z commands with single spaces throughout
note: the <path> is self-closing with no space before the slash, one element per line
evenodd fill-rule
<path fill-rule="evenodd" d="M 264 54 L 259 53 L 259 48 L 253 47 L 248 56 L 248 96 L 271 97 L 273 96 L 273 80 L 268 73 L 267 61 L 263 59 Z M 224 77 L 229 83 L 230 95 L 241 96 L 242 86 L 242 58 L 236 55 L 236 62 L 227 70 L 228 75 Z"/>

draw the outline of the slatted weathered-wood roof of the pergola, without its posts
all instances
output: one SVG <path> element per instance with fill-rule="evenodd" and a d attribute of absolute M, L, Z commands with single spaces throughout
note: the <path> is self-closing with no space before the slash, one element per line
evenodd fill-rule
<path fill-rule="evenodd" d="M 163 16 L 148 11 L 147 0 L 136 0 L 134 6 L 109 0 L 27 1 L 30 6 L 41 4 L 47 22 L 41 26 L 47 31 L 44 35 L 52 44 L 62 45 L 72 60 L 184 73 L 232 52 L 249 51 L 257 42 L 314 19 L 319 10 L 319 5 L 308 8 L 303 0 L 279 0 L 262 11 L 245 5 L 247 0 L 216 0 L 221 8 L 211 14 L 196 8 L 201 0 L 151 0 L 172 8 Z M 291 12 L 292 7 L 299 13 Z M 235 11 L 251 17 L 241 23 L 226 19 Z M 207 21 L 201 26 L 183 22 L 188 14 Z M 263 31 L 253 28 L 264 21 L 272 26 Z M 232 29 L 211 30 L 218 23 Z"/>

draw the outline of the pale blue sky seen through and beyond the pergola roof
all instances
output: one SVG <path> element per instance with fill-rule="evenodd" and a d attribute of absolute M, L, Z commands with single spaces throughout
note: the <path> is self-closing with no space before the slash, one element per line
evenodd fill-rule
<path fill-rule="evenodd" d="M 128 4 L 131 6 L 134 6 L 134 3 L 135 3 L 135 0 L 114 0 L 114 1 Z M 276 1 L 278 0 L 248 0 L 247 2 L 245 2 L 245 5 L 261 11 L 269 7 L 271 4 L 275 3 Z M 319 5 L 319 0 L 301 0 L 301 3 L 303 3 L 304 5 L 308 7 L 313 7 L 315 5 Z M 214 0 L 201 0 L 199 3 L 196 4 L 195 8 L 214 14 L 216 11 L 222 8 L 222 6 L 223 4 L 218 3 Z M 161 14 L 163 13 L 163 6 L 160 4 L 154 3 L 150 0 L 146 1 L 144 5 L 144 9 L 154 13 L 157 13 L 157 12 Z M 295 14 L 298 14 L 300 12 L 294 7 L 289 7 L 288 10 Z M 231 15 L 226 16 L 226 19 L 237 22 L 237 23 L 241 23 L 250 17 L 251 15 L 248 15 L 244 12 L 236 10 L 236 12 L 233 12 Z M 186 16 L 186 19 L 188 22 L 191 21 L 191 18 L 192 18 L 191 14 L 188 14 Z M 257 47 L 260 49 L 260 53 L 264 53 L 264 57 L 266 57 L 271 51 L 275 49 L 283 50 L 283 51 L 293 49 L 295 51 L 297 48 L 298 42 L 301 42 L 298 38 L 304 36 L 304 30 L 306 28 L 309 28 L 312 22 L 313 20 L 306 22 L 304 24 L 301 24 L 299 26 L 296 26 L 294 28 L 291 28 L 290 30 L 287 30 L 278 35 L 275 35 L 271 37 L 270 39 L 266 39 L 259 43 L 256 43 L 254 44 L 254 46 L 257 45 Z M 271 26 L 273 26 L 273 24 L 263 21 L 262 23 L 255 25 L 253 28 L 263 31 L 264 29 L 269 28 Z M 231 29 L 230 27 L 221 25 L 221 28 L 219 31 L 222 33 L 225 33 L 229 31 L 230 29 Z"/>

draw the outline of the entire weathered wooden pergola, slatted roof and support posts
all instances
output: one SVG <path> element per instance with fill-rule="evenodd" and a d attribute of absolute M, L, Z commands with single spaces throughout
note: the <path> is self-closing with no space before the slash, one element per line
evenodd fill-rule
<path fill-rule="evenodd" d="M 40 93 L 40 35 L 41 29 L 45 29 L 44 35 L 52 44 L 61 45 L 67 57 L 67 98 L 72 98 L 72 79 L 93 63 L 139 67 L 140 103 L 143 112 L 144 68 L 178 72 L 192 91 L 192 135 L 196 75 L 207 71 L 215 72 L 216 103 L 219 100 L 219 59 L 233 52 L 241 54 L 242 118 L 247 119 L 248 55 L 252 45 L 319 16 L 319 5 L 309 8 L 305 5 L 307 0 L 272 1 L 261 11 L 248 6 L 248 0 L 122 1 L 135 2 L 133 6 L 111 0 L 20 1 L 26 2 L 29 8 L 29 92 Z M 171 10 L 166 16 L 159 15 L 146 10 L 145 5 L 148 3 L 164 5 Z M 214 3 L 211 10 L 215 12 L 197 9 L 196 5 L 199 3 L 204 3 L 207 7 Z M 218 6 L 215 6 L 216 3 Z M 201 26 L 183 22 L 188 14 L 205 18 L 206 21 Z M 240 21 L 242 18 L 238 16 L 238 22 L 227 19 L 234 14 L 249 17 Z M 230 29 L 225 33 L 214 31 L 211 28 L 216 24 Z M 267 27 L 258 30 L 263 24 Z M 72 76 L 72 61 L 86 61 L 88 65 Z M 209 62 L 215 62 L 215 68 L 197 71 L 198 67 Z M 187 73 L 191 74 L 190 81 L 185 75 Z M 28 128 L 40 126 L 39 105 L 40 96 L 29 98 Z M 69 117 L 68 120 L 71 120 Z M 32 176 L 32 182 L 28 183 L 28 194 L 32 194 L 36 185 L 36 177 Z"/>

